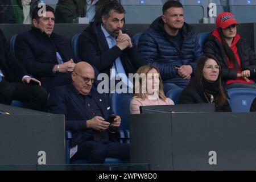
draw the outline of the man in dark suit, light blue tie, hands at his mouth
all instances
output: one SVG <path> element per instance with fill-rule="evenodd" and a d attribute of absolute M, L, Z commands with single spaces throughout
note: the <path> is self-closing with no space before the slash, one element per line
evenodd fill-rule
<path fill-rule="evenodd" d="M 146 64 L 130 36 L 122 32 L 124 22 L 123 6 L 110 2 L 102 7 L 101 22 L 90 24 L 79 37 L 80 58 L 110 79 L 119 73 L 128 76 Z"/>

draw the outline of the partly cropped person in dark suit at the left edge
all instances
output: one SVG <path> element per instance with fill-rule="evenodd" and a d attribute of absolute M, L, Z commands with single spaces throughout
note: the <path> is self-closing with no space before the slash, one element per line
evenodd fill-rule
<path fill-rule="evenodd" d="M 0 30 L 0 103 L 10 105 L 12 100 L 24 102 L 28 109 L 41 110 L 47 100 L 40 81 L 27 76 L 23 66 L 11 55 L 5 36 Z M 38 85 L 30 84 L 32 81 Z M 22 82 L 23 81 L 23 82 Z"/>

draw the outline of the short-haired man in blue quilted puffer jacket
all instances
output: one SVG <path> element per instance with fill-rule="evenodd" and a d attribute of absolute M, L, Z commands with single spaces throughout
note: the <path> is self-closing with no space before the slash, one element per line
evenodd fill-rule
<path fill-rule="evenodd" d="M 184 22 L 183 6 L 167 1 L 157 18 L 139 39 L 139 51 L 148 64 L 159 68 L 164 92 L 185 88 L 203 55 L 195 32 Z"/>

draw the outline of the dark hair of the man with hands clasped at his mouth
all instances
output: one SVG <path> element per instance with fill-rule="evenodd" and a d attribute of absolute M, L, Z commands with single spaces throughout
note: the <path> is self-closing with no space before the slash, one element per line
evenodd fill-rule
<path fill-rule="evenodd" d="M 120 3 L 113 1 L 102 7 L 101 17 L 105 16 L 105 18 L 109 18 L 110 11 L 112 10 L 114 10 L 115 13 L 119 14 L 125 13 L 125 9 L 123 9 L 123 6 Z"/>

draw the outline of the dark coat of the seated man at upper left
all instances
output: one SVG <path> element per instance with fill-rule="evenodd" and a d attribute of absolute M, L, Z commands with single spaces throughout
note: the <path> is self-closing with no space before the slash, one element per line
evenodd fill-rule
<path fill-rule="evenodd" d="M 52 79 L 64 75 L 64 73 L 53 73 L 52 68 L 59 64 L 56 58 L 56 51 L 60 53 L 63 62 L 73 59 L 74 56 L 71 43 L 67 38 L 52 33 L 48 36 L 39 28 L 32 27 L 30 31 L 19 34 L 15 42 L 15 56 L 24 65 L 27 72 L 42 81 L 43 86 L 52 87 Z M 51 85 L 51 86 L 49 86 Z M 48 89 L 51 90 L 51 89 Z"/>

